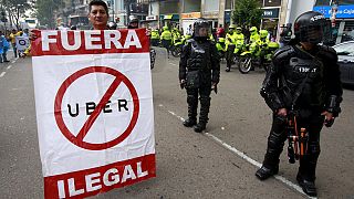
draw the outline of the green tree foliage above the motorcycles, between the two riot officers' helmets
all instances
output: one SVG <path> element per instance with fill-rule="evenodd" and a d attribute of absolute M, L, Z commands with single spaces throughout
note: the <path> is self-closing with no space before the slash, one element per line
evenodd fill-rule
<path fill-rule="evenodd" d="M 232 20 L 243 30 L 250 27 L 259 27 L 262 18 L 262 10 L 259 0 L 235 0 Z"/>

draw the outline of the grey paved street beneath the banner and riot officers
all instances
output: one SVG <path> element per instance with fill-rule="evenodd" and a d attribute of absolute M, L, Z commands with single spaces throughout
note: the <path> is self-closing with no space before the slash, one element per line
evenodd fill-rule
<path fill-rule="evenodd" d="M 152 72 L 157 177 L 93 198 L 306 198 L 295 182 L 298 165 L 288 164 L 287 153 L 277 179 L 254 177 L 271 123 L 259 95 L 263 71 L 226 73 L 222 63 L 207 133 L 196 134 L 181 125 L 187 103 L 178 85 L 179 60 L 157 59 Z M 31 59 L 11 61 L 0 64 L 0 196 L 43 198 Z M 343 98 L 340 118 L 321 135 L 319 198 L 354 197 L 354 91 L 345 88 Z"/>

